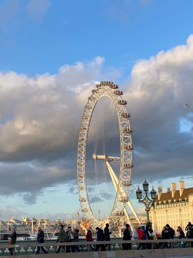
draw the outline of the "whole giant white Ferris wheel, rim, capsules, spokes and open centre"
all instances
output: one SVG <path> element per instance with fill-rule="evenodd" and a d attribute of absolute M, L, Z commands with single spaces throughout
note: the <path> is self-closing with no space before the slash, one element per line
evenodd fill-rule
<path fill-rule="evenodd" d="M 131 185 L 132 141 L 126 104 L 118 85 L 102 81 L 92 90 L 82 117 L 77 159 L 82 212 L 92 228 L 100 226 L 98 211 L 110 223 L 127 211 Z"/>

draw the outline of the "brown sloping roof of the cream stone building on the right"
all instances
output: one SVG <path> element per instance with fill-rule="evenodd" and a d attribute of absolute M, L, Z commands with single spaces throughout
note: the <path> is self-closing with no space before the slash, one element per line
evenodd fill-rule
<path fill-rule="evenodd" d="M 179 198 L 182 198 L 182 202 L 185 201 L 185 198 L 188 200 L 188 196 L 193 194 L 193 187 L 190 188 L 184 188 L 184 191 L 182 192 L 182 196 L 180 196 L 180 190 L 176 190 L 174 197 L 172 198 L 172 191 L 168 191 L 165 193 L 162 193 L 160 196 L 160 199 L 158 200 L 158 195 L 156 196 L 155 202 L 157 202 L 156 205 L 164 204 L 163 201 L 166 201 L 165 203 L 169 203 L 168 200 L 171 200 L 171 203 L 174 203 L 174 200 L 176 199 L 176 202 L 179 202 Z"/>

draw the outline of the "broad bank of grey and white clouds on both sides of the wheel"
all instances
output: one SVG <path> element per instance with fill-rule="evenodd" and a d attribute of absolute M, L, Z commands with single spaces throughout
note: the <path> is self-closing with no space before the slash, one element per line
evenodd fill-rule
<path fill-rule="evenodd" d="M 76 185 L 78 132 L 87 98 L 99 79 L 118 83 L 120 76 L 116 68 L 105 73 L 104 61 L 96 57 L 64 65 L 53 75 L 0 73 L 1 195 L 9 194 L 6 186 L 12 175 L 12 193 L 20 193 L 27 203 L 37 189 Z M 139 60 L 131 80 L 119 85 L 132 116 L 134 184 L 144 177 L 151 183 L 181 176 L 182 171 L 192 176 L 192 127 L 181 128 L 182 119 L 192 122 L 192 106 L 185 106 L 192 99 L 192 81 L 190 35 L 185 45 Z M 75 193 L 74 187 L 71 192 Z"/>

